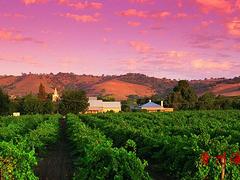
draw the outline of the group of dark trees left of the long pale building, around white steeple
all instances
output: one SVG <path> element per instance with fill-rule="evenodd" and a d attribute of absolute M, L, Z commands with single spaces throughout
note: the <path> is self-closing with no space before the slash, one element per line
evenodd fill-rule
<path fill-rule="evenodd" d="M 7 93 L 0 89 L 0 115 L 8 115 L 13 112 L 21 114 L 67 114 L 86 111 L 88 98 L 82 90 L 65 90 L 61 100 L 52 102 L 52 94 L 47 94 L 45 87 L 40 84 L 37 95 L 28 94 L 24 97 L 10 99 Z"/>

